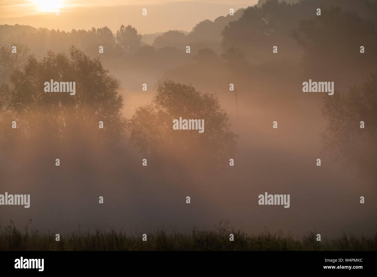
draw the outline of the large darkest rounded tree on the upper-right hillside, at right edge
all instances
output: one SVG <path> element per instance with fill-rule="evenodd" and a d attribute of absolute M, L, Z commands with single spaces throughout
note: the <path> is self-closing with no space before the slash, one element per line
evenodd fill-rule
<path fill-rule="evenodd" d="M 376 68 L 374 51 L 360 53 L 360 45 L 365 49 L 377 47 L 375 26 L 355 12 L 322 8 L 321 16 L 300 21 L 291 36 L 305 51 L 302 64 L 310 76 L 341 76 L 341 80 L 352 79 L 358 83 Z"/>

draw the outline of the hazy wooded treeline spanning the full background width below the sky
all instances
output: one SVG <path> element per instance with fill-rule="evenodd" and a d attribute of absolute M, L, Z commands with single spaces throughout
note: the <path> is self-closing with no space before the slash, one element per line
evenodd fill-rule
<path fill-rule="evenodd" d="M 321 8 L 320 16 L 317 8 Z M 15 44 L 27 45 L 37 56 L 45 55 L 46 50 L 67 52 L 75 45 L 89 56 L 100 56 L 110 71 L 164 74 L 185 83 L 213 83 L 236 72 L 239 82 L 250 75 L 285 78 L 301 74 L 333 79 L 342 76 L 354 84 L 376 68 L 376 14 L 375 0 L 362 0 L 357 5 L 352 0 L 271 0 L 240 9 L 233 16 L 201 21 L 187 35 L 173 30 L 162 33 L 152 45 L 143 42 L 130 25 L 122 25 L 116 33 L 106 26 L 64 32 L 2 25 L 0 36 L 5 45 L 0 60 L 6 59 L 4 55 Z M 187 45 L 190 54 L 186 53 Z M 103 46 L 103 54 L 99 46 Z M 277 54 L 273 54 L 273 46 L 277 46 Z M 366 49 L 362 56 L 361 46 Z M 0 69 L 1 76 L 9 71 L 6 65 Z M 214 70 L 216 74 L 211 74 Z"/>

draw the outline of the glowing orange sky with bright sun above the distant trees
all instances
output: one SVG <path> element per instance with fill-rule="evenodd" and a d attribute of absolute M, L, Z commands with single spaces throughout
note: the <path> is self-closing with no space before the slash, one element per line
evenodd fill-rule
<path fill-rule="evenodd" d="M 253 6 L 257 0 L 2 0 L 0 24 L 21 24 L 70 31 L 108 26 L 113 32 L 131 24 L 139 33 L 191 31 L 202 20 L 227 15 L 230 8 Z M 60 15 L 55 15 L 59 7 Z M 142 9 L 147 9 L 147 16 Z"/>

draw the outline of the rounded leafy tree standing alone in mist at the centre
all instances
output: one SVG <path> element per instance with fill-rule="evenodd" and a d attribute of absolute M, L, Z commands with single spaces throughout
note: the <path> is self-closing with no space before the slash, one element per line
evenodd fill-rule
<path fill-rule="evenodd" d="M 152 103 L 138 107 L 127 121 L 130 143 L 150 156 L 172 157 L 196 164 L 219 162 L 236 150 L 238 135 L 213 94 L 202 94 L 190 85 L 165 80 L 159 83 Z M 204 132 L 173 130 L 173 120 L 204 119 Z"/>

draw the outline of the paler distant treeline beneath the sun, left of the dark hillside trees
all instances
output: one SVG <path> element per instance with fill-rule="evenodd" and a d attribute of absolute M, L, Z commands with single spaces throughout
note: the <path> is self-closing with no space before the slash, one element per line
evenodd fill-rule
<path fill-rule="evenodd" d="M 1 25 L 0 38 L 6 50 L 12 45 L 25 44 L 37 57 L 44 56 L 47 50 L 67 52 L 71 45 L 95 57 L 100 56 L 99 47 L 103 46 L 104 54 L 101 59 L 109 68 L 119 69 L 125 65 L 135 68 L 140 61 L 145 60 L 149 67 L 162 65 L 164 70 L 189 60 L 185 55 L 186 45 L 192 47 L 193 54 L 200 48 L 220 51 L 221 30 L 230 20 L 238 19 L 241 14 L 242 9 L 236 11 L 234 16 L 220 16 L 215 21 L 204 20 L 196 24 L 187 36 L 180 31 L 170 30 L 156 37 L 152 45 L 143 42 L 141 34 L 131 25 L 121 25 L 116 33 L 112 33 L 107 26 L 65 32 L 19 24 Z"/>

